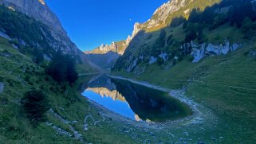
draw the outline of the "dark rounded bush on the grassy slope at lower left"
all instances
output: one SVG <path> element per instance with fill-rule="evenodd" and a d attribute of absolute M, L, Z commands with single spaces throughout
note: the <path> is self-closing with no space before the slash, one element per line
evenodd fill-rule
<path fill-rule="evenodd" d="M 22 98 L 22 107 L 31 123 L 37 125 L 45 121 L 45 112 L 49 110 L 49 100 L 43 91 L 28 91 Z"/>

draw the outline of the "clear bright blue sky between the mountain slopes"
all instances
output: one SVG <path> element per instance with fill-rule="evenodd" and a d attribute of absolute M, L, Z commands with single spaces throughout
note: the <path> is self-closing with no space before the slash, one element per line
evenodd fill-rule
<path fill-rule="evenodd" d="M 124 40 L 167 0 L 45 0 L 83 51 Z"/>

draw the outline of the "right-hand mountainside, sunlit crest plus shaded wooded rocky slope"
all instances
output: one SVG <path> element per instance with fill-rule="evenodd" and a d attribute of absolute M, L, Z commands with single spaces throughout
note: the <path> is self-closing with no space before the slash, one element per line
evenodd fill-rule
<path fill-rule="evenodd" d="M 199 1 L 167 2 L 156 10 L 152 19 L 149 20 L 158 20 L 155 23 L 158 25 L 162 20 L 167 24 L 168 18 L 176 18 L 174 22 L 178 21 L 178 24 L 175 26 L 168 25 L 163 29 L 148 32 L 147 30 L 152 28 L 150 25 L 152 22 L 147 21 L 142 26 L 137 23 L 133 32 L 136 34 L 133 34 L 132 41 L 124 55 L 116 61 L 113 70 L 120 71 L 124 69 L 126 72 L 133 72 L 138 76 L 155 63 L 163 69 L 170 69 L 183 61 L 186 56 L 190 57 L 191 62 L 197 63 L 207 56 L 226 55 L 236 51 L 244 47 L 246 37 L 254 36 L 253 33 L 250 34 L 251 31 L 246 31 L 246 29 L 254 29 L 252 21 L 255 18 L 253 1 L 248 0 L 246 3 L 241 3 L 240 1 L 226 0 L 219 3 L 216 0 L 210 3 L 207 3 L 207 1 L 203 4 L 196 2 Z M 215 2 L 215 5 L 209 6 L 213 2 Z M 177 7 L 174 9 L 172 6 L 177 6 L 179 9 Z M 236 9 L 235 12 L 232 11 L 232 8 Z M 163 13 L 166 12 L 166 9 L 170 10 L 171 14 Z M 236 18 L 235 16 L 238 15 L 236 11 L 241 9 L 250 9 L 248 10 L 250 12 L 244 12 L 245 14 L 241 14 L 241 18 Z M 175 10 L 179 11 L 179 14 L 181 12 L 178 18 Z M 224 12 L 220 13 L 221 10 L 224 10 Z M 186 14 L 190 14 L 189 18 L 182 15 L 185 14 L 184 11 L 187 12 Z M 211 18 L 209 15 L 212 15 Z M 216 24 L 215 21 L 219 20 L 217 18 L 220 15 L 223 16 L 223 22 Z M 180 18 L 180 16 L 183 16 L 183 18 Z M 248 16 L 250 18 L 246 18 Z M 211 21 L 207 23 L 209 20 Z M 244 28 L 240 29 L 241 27 L 232 25 L 233 21 L 241 26 L 243 23 Z M 248 24 L 246 24 L 247 21 Z M 207 26 L 203 26 L 201 23 L 207 23 Z M 223 33 L 223 35 L 220 36 L 220 33 Z"/>

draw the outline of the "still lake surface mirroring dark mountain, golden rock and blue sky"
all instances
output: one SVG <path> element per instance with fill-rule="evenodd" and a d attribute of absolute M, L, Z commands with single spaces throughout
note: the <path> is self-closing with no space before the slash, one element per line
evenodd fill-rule
<path fill-rule="evenodd" d="M 186 104 L 166 92 L 100 76 L 82 95 L 103 107 L 136 121 L 165 122 L 191 115 Z"/>

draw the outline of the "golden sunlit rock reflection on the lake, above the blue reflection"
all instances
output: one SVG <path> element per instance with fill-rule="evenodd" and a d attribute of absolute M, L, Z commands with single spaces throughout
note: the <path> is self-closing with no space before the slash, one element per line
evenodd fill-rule
<path fill-rule="evenodd" d="M 118 91 L 113 90 L 109 91 L 108 88 L 88 88 L 87 90 L 96 92 L 97 94 L 101 95 L 102 97 L 111 97 L 113 100 L 120 100 L 125 102 L 125 98 L 121 95 Z"/>

